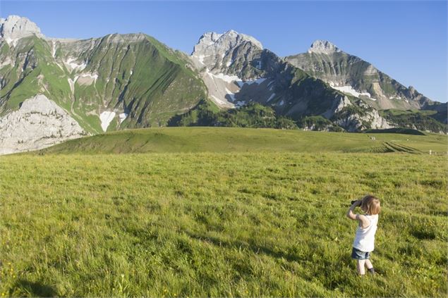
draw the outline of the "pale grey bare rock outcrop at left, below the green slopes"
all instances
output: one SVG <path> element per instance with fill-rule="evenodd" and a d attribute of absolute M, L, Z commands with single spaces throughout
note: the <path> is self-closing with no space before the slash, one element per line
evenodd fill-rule
<path fill-rule="evenodd" d="M 84 135 L 66 111 L 39 94 L 0 118 L 0 154 L 42 149 Z"/>

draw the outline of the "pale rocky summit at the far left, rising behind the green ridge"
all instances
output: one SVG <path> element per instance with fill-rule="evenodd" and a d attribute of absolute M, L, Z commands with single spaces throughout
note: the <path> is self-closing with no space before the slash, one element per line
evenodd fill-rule
<path fill-rule="evenodd" d="M 3 37 L 6 42 L 9 43 L 15 39 L 30 35 L 44 37 L 40 32 L 40 28 L 28 18 L 9 15 L 6 19 L 0 19 L 0 37 Z"/>

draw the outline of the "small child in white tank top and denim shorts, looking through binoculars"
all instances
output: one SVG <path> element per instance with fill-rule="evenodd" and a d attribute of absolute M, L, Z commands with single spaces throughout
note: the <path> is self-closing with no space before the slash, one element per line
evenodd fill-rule
<path fill-rule="evenodd" d="M 364 265 L 370 273 L 375 273 L 372 262 L 370 262 L 370 252 L 373 252 L 375 243 L 375 232 L 377 231 L 378 213 L 380 213 L 380 199 L 370 194 L 363 197 L 358 201 L 353 201 L 349 211 L 347 211 L 347 217 L 358 221 L 358 229 L 356 230 L 355 240 L 353 241 L 353 250 L 351 252 L 351 258 L 356 259 L 356 269 L 359 275 L 364 275 Z M 361 206 L 361 210 L 365 212 L 363 214 L 353 213 L 353 209 L 356 206 Z"/>

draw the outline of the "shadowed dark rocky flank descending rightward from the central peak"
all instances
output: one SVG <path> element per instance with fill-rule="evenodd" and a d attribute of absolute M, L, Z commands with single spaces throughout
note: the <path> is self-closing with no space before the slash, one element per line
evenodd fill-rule
<path fill-rule="evenodd" d="M 247 44 L 244 46 L 248 47 Z M 280 116 L 293 120 L 322 116 L 334 122 L 333 126 L 339 125 L 348 131 L 384 125 L 376 111 L 360 99 L 333 89 L 320 78 L 309 75 L 267 49 L 249 49 L 226 70 L 228 74 L 242 77 L 248 73 L 265 77 L 266 83 L 257 87 L 244 85 L 235 95 L 236 101 L 257 101 L 272 107 Z M 263 94 L 260 91 L 263 88 L 264 96 L 253 93 L 255 89 Z M 267 94 L 270 94 L 269 99 Z M 341 113 L 342 108 L 345 108 L 345 113 Z"/>

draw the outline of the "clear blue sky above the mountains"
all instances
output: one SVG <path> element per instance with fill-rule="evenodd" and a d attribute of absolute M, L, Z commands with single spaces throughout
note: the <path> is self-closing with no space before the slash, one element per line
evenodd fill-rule
<path fill-rule="evenodd" d="M 204 32 L 234 29 L 279 56 L 315 39 L 373 63 L 406 87 L 447 101 L 447 1 L 5 1 L 47 37 L 144 32 L 190 54 Z"/>

